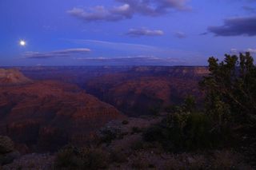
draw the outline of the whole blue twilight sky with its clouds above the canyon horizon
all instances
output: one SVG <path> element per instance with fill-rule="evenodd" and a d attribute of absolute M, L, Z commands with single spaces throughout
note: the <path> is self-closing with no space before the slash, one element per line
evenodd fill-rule
<path fill-rule="evenodd" d="M 256 0 L 0 1 L 0 66 L 206 65 L 244 51 L 256 55 Z"/>

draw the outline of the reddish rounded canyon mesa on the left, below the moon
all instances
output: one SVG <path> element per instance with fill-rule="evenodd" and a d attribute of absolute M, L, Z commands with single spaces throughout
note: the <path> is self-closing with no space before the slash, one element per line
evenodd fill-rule
<path fill-rule="evenodd" d="M 36 81 L 0 87 L 0 135 L 42 151 L 84 144 L 94 130 L 122 117 L 76 85 Z"/>

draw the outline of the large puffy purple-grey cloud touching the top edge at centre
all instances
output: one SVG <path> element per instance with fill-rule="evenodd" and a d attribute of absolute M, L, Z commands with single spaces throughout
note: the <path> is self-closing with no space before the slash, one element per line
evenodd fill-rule
<path fill-rule="evenodd" d="M 73 8 L 67 13 L 86 22 L 106 21 L 115 22 L 133 18 L 134 14 L 146 16 L 158 16 L 171 11 L 190 10 L 188 0 L 115 0 L 121 2 L 121 6 L 94 6 L 87 9 Z"/>

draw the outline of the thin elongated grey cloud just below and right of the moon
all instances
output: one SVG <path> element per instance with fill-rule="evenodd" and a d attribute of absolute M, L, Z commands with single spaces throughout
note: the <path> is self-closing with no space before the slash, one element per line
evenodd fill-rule
<path fill-rule="evenodd" d="M 73 55 L 78 55 L 82 53 L 89 53 L 90 49 L 63 49 L 58 51 L 51 51 L 46 53 L 39 52 L 26 52 L 23 54 L 24 58 L 50 58 L 50 57 L 72 57 Z"/>

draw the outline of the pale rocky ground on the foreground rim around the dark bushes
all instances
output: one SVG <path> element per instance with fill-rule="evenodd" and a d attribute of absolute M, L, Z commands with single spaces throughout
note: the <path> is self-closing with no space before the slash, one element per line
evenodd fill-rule
<path fill-rule="evenodd" d="M 142 132 L 162 120 L 158 117 L 110 121 L 98 132 L 97 149 L 110 157 L 106 169 L 254 169 L 233 149 L 207 152 L 166 152 L 158 143 L 142 140 Z M 94 146 L 95 147 L 95 146 Z M 55 155 L 29 154 L 2 169 L 54 169 Z"/>

